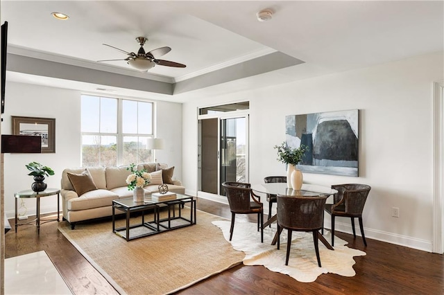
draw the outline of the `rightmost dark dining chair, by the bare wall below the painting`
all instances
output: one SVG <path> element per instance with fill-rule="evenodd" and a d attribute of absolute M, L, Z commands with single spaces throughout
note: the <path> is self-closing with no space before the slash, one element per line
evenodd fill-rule
<path fill-rule="evenodd" d="M 335 184 L 332 188 L 338 191 L 333 195 L 334 204 L 325 204 L 325 211 L 332 215 L 332 246 L 334 246 L 334 217 L 336 216 L 350 217 L 354 238 L 356 238 L 355 217 L 357 217 L 362 240 L 364 245 L 367 246 L 364 226 L 362 225 L 362 211 L 371 187 L 366 184 Z"/>

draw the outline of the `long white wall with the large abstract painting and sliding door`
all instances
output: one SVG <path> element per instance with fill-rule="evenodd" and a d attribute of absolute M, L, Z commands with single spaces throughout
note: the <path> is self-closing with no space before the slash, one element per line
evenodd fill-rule
<path fill-rule="evenodd" d="M 285 116 L 359 109 L 359 177 L 305 173 L 304 181 L 372 186 L 363 216 L 368 238 L 432 251 L 432 87 L 437 80 L 443 80 L 442 53 L 231 93 L 211 103 L 250 100 L 252 184 L 285 174 L 273 149 L 284 141 Z M 207 98 L 183 106 L 187 174 L 182 181 L 189 192 L 197 190 L 196 108 L 209 104 Z M 400 208 L 399 218 L 391 217 L 392 207 Z M 338 220 L 336 228 L 351 231 L 349 219 Z"/>

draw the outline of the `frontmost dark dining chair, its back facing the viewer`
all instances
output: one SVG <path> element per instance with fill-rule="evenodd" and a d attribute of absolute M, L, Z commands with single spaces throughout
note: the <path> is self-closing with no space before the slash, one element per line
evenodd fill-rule
<path fill-rule="evenodd" d="M 292 197 L 278 195 L 278 249 L 280 248 L 280 233 L 283 229 L 288 230 L 287 256 L 285 265 L 289 265 L 291 249 L 291 233 L 293 231 L 311 231 L 313 233 L 314 251 L 321 267 L 319 256 L 318 235 L 323 227 L 323 213 L 327 196 L 319 197 Z"/>

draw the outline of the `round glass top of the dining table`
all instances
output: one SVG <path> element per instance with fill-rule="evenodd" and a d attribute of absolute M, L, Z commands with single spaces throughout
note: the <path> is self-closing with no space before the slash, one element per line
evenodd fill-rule
<path fill-rule="evenodd" d="M 337 190 L 334 190 L 329 186 L 320 186 L 318 184 L 302 184 L 300 190 L 288 188 L 287 183 L 253 184 L 251 189 L 257 193 L 304 197 L 316 197 L 319 195 L 333 195 L 338 193 Z"/>

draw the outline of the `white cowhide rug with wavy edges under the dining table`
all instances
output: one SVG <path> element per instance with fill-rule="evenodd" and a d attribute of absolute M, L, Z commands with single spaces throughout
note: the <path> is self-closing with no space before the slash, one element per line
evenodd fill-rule
<path fill-rule="evenodd" d="M 212 224 L 222 230 L 225 240 L 230 240 L 229 221 L 219 220 L 212 222 Z M 273 224 L 271 228 L 264 229 L 264 243 L 261 243 L 257 224 L 237 220 L 234 223 L 234 233 L 230 243 L 233 249 L 245 253 L 244 265 L 264 265 L 271 271 L 287 274 L 304 283 L 314 282 L 319 275 L 329 272 L 340 276 L 355 276 L 353 256 L 366 255 L 363 251 L 346 247 L 347 242 L 335 237 L 334 251 L 327 249 L 319 241 L 322 267 L 318 267 L 313 234 L 293 231 L 289 265 L 286 266 L 287 230 L 282 231 L 280 235 L 280 250 L 276 245 L 271 245 L 275 232 L 276 224 Z M 324 233 L 324 237 L 330 241 L 330 231 L 324 231 Z"/>

